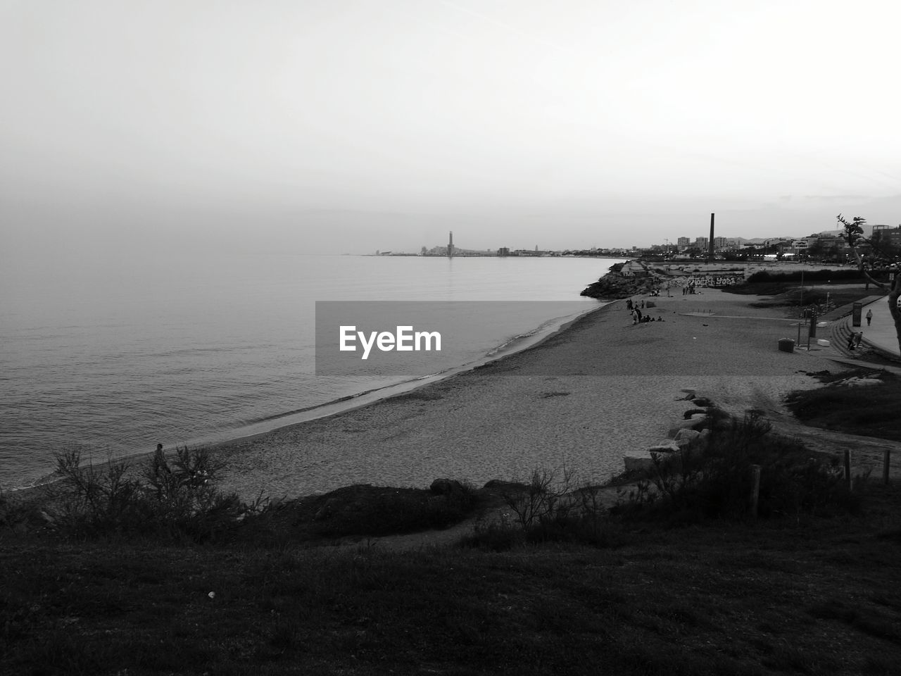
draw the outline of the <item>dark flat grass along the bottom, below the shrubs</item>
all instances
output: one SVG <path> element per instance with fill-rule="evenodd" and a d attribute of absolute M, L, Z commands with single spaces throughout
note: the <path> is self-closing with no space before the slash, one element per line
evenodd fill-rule
<path fill-rule="evenodd" d="M 867 505 L 505 553 L 6 536 L 0 671 L 896 673 L 901 497 Z"/>

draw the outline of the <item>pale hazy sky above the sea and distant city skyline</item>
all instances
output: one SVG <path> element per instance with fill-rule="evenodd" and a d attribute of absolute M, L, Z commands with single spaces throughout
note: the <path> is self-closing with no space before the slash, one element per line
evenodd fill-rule
<path fill-rule="evenodd" d="M 0 0 L 4 251 L 901 223 L 894 3 Z"/>

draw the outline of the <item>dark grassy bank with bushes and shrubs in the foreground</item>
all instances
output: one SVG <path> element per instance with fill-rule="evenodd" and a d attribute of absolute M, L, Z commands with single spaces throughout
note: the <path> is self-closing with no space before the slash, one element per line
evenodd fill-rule
<path fill-rule="evenodd" d="M 892 673 L 901 492 L 865 478 L 851 492 L 830 458 L 774 436 L 754 411 L 711 421 L 703 447 L 618 489 L 535 470 L 483 489 L 348 487 L 238 509 L 200 452 L 173 463 L 171 489 L 64 455 L 58 498 L 71 512 L 3 503 L 25 517 L 0 535 L 0 669 Z M 618 490 L 612 506 L 605 489 Z M 133 515 L 111 513 L 152 524 L 150 507 L 129 505 L 170 500 L 186 523 L 218 526 L 132 528 Z M 460 546 L 378 539 L 478 514 Z"/>

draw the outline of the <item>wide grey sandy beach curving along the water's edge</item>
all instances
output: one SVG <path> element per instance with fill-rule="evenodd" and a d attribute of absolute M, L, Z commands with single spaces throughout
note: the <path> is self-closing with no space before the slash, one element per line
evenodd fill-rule
<path fill-rule="evenodd" d="M 353 483 L 477 485 L 536 467 L 605 481 L 623 452 L 666 438 L 696 388 L 735 413 L 784 414 L 779 399 L 837 370 L 829 352 L 779 352 L 796 326 L 754 297 L 714 289 L 647 298 L 662 322 L 633 325 L 625 301 L 537 347 L 336 416 L 219 444 L 223 488 L 242 498 L 309 495 Z"/>

